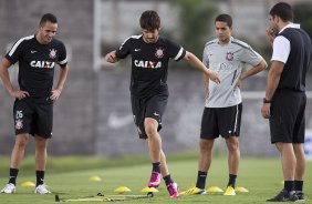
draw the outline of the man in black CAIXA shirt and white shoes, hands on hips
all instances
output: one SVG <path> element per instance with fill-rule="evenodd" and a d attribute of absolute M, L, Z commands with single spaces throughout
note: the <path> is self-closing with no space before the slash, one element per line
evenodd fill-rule
<path fill-rule="evenodd" d="M 15 143 L 12 150 L 10 178 L 1 193 L 14 193 L 17 176 L 30 135 L 35 141 L 34 193 L 48 194 L 44 184 L 48 139 L 52 137 L 53 102 L 62 92 L 67 75 L 67 58 L 63 42 L 53 39 L 58 30 L 56 18 L 46 13 L 42 17 L 38 32 L 17 41 L 0 61 L 0 76 L 12 98 Z M 8 69 L 19 62 L 19 86 L 10 81 Z M 54 67 L 59 64 L 60 75 L 52 90 Z"/>

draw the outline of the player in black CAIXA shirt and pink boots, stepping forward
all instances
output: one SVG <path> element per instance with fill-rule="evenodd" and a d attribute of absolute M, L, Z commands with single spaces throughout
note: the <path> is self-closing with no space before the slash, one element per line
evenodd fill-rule
<path fill-rule="evenodd" d="M 153 171 L 148 187 L 158 187 L 162 175 L 170 197 L 178 197 L 177 184 L 171 180 L 162 150 L 162 116 L 167 105 L 168 61 L 187 60 L 194 68 L 202 71 L 206 76 L 219 83 L 217 72 L 209 71 L 193 53 L 179 44 L 159 37 L 160 19 L 155 11 L 145 11 L 139 19 L 142 34 L 125 40 L 118 50 L 106 54 L 106 61 L 117 62 L 132 55 L 132 111 L 141 139 L 147 140 Z"/>

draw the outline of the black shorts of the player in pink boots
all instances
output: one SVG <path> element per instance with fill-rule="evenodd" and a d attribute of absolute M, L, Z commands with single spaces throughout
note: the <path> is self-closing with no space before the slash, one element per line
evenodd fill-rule
<path fill-rule="evenodd" d="M 145 118 L 155 119 L 158 122 L 159 132 L 162 129 L 162 118 L 167 106 L 168 95 L 154 95 L 150 98 L 136 98 L 132 95 L 132 112 L 134 123 L 137 126 L 139 139 L 147 139 L 144 120 Z"/>

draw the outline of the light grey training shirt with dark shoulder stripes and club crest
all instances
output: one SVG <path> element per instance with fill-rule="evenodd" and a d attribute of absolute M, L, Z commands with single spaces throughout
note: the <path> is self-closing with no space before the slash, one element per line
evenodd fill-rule
<path fill-rule="evenodd" d="M 206 43 L 202 54 L 204 64 L 219 73 L 221 83 L 209 82 L 209 96 L 206 108 L 227 108 L 241 103 L 240 89 L 235 89 L 245 63 L 258 65 L 262 57 L 247 43 L 230 38 L 228 44 L 219 44 L 218 39 Z"/>

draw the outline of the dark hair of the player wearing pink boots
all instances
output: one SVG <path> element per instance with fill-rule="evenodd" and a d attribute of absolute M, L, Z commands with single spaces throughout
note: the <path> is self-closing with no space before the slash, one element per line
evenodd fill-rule
<path fill-rule="evenodd" d="M 160 28 L 160 18 L 156 11 L 144 11 L 139 18 L 139 26 L 142 29 L 155 30 Z"/>

